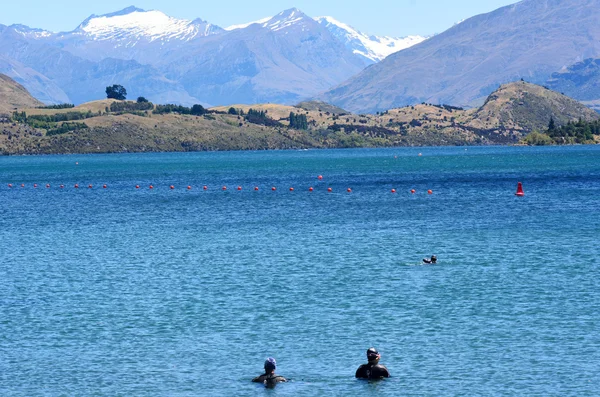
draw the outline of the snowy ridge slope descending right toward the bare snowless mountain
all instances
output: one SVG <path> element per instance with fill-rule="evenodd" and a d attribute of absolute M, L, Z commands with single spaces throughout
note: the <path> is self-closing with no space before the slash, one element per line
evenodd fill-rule
<path fill-rule="evenodd" d="M 422 36 L 369 36 L 332 17 L 317 17 L 315 20 L 327 28 L 338 40 L 341 40 L 346 48 L 371 62 L 379 62 L 394 52 L 404 50 L 427 39 Z"/>

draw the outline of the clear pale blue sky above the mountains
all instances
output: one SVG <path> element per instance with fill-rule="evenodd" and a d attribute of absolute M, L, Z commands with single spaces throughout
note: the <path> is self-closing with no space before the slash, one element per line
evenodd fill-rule
<path fill-rule="evenodd" d="M 386 36 L 440 33 L 455 22 L 516 0 L 7 0 L 0 23 L 21 23 L 51 31 L 69 31 L 91 14 L 107 14 L 135 5 L 182 19 L 202 18 L 221 27 L 250 22 L 297 7 L 312 17 L 332 16 L 369 34 Z"/>

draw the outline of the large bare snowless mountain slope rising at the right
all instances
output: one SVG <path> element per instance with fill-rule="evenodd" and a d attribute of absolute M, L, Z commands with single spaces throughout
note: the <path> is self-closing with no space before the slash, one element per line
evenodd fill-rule
<path fill-rule="evenodd" d="M 320 99 L 353 112 L 420 102 L 471 106 L 520 78 L 544 84 L 600 57 L 600 0 L 523 0 L 371 65 Z"/>

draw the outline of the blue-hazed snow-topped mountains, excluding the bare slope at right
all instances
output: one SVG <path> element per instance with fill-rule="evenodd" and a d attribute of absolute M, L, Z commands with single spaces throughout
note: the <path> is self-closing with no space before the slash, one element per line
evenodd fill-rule
<path fill-rule="evenodd" d="M 45 103 L 82 103 L 121 84 L 157 103 L 295 103 L 424 37 L 363 34 L 298 9 L 221 28 L 128 7 L 70 32 L 0 25 L 0 72 Z"/>

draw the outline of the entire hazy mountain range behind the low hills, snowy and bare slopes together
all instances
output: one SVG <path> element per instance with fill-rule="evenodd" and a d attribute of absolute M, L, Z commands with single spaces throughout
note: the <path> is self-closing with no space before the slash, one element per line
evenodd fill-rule
<path fill-rule="evenodd" d="M 45 103 L 129 97 L 207 106 L 318 99 L 358 113 L 479 107 L 498 86 L 545 85 L 600 109 L 600 0 L 522 0 L 431 37 L 370 36 L 292 8 L 219 27 L 128 7 L 70 32 L 0 25 L 0 73 Z"/>

